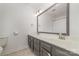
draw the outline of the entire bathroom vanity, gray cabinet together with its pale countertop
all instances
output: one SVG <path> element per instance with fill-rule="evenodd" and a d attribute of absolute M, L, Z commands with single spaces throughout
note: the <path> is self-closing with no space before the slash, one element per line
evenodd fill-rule
<path fill-rule="evenodd" d="M 68 41 L 28 35 L 28 45 L 37 56 L 79 56 L 79 48 L 76 46 L 76 50 L 75 43 Z"/>

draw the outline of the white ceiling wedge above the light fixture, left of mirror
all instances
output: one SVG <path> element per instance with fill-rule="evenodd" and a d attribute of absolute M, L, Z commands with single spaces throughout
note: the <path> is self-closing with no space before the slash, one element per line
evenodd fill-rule
<path fill-rule="evenodd" d="M 27 6 L 33 8 L 35 11 L 40 9 L 41 11 L 44 11 L 54 3 L 26 3 Z"/>

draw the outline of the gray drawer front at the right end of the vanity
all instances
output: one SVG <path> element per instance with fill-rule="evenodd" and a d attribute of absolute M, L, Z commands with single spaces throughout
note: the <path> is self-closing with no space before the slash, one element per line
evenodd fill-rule
<path fill-rule="evenodd" d="M 75 54 L 71 51 L 60 48 L 58 46 L 53 46 L 52 55 L 53 56 L 78 56 L 78 54 Z"/>

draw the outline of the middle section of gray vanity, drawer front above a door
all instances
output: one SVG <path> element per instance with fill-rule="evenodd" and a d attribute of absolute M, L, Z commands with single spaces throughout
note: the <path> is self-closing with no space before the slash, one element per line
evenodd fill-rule
<path fill-rule="evenodd" d="M 40 55 L 41 56 L 51 56 L 51 44 L 41 41 L 40 42 Z"/>

